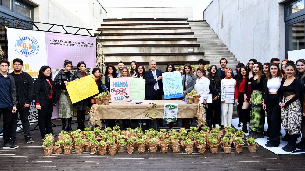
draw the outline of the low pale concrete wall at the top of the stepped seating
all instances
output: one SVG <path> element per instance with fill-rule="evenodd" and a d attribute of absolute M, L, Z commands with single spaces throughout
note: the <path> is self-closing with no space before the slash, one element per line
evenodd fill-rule
<path fill-rule="evenodd" d="M 193 7 L 105 8 L 109 19 L 122 18 L 188 18 L 193 19 Z"/>

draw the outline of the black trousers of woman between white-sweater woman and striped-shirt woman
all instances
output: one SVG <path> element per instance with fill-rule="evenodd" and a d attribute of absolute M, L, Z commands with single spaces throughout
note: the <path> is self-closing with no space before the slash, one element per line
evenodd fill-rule
<path fill-rule="evenodd" d="M 219 125 L 221 123 L 221 102 L 220 99 L 208 103 L 207 118 L 213 125 Z"/>

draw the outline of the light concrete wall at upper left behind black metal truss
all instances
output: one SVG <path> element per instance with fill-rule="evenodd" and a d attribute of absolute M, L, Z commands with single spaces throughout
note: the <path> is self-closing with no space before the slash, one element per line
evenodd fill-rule
<path fill-rule="evenodd" d="M 103 19 L 107 19 L 107 12 L 97 0 L 33 0 L 39 6 L 34 7 L 34 21 L 42 23 L 60 24 L 88 29 L 100 28 Z M 38 24 L 38 28 L 47 29 L 48 25 Z M 35 27 L 34 27 L 35 29 Z M 77 29 L 65 28 L 67 31 L 76 32 Z M 59 26 L 54 26 L 51 31 L 64 32 Z M 86 30 L 79 34 L 89 35 Z M 90 32 L 96 33 L 96 32 Z"/>

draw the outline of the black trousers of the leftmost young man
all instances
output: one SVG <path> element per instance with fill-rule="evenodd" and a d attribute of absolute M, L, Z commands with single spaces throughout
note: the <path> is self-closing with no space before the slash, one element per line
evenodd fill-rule
<path fill-rule="evenodd" d="M 0 117 L 3 115 L 3 141 L 4 144 L 9 142 L 9 132 L 11 130 L 13 107 L 0 108 Z"/>

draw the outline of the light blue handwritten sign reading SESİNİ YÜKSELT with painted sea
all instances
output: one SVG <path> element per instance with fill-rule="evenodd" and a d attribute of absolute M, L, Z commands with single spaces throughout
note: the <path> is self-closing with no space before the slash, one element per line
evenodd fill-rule
<path fill-rule="evenodd" d="M 164 99 L 183 97 L 182 77 L 179 71 L 163 72 Z"/>

